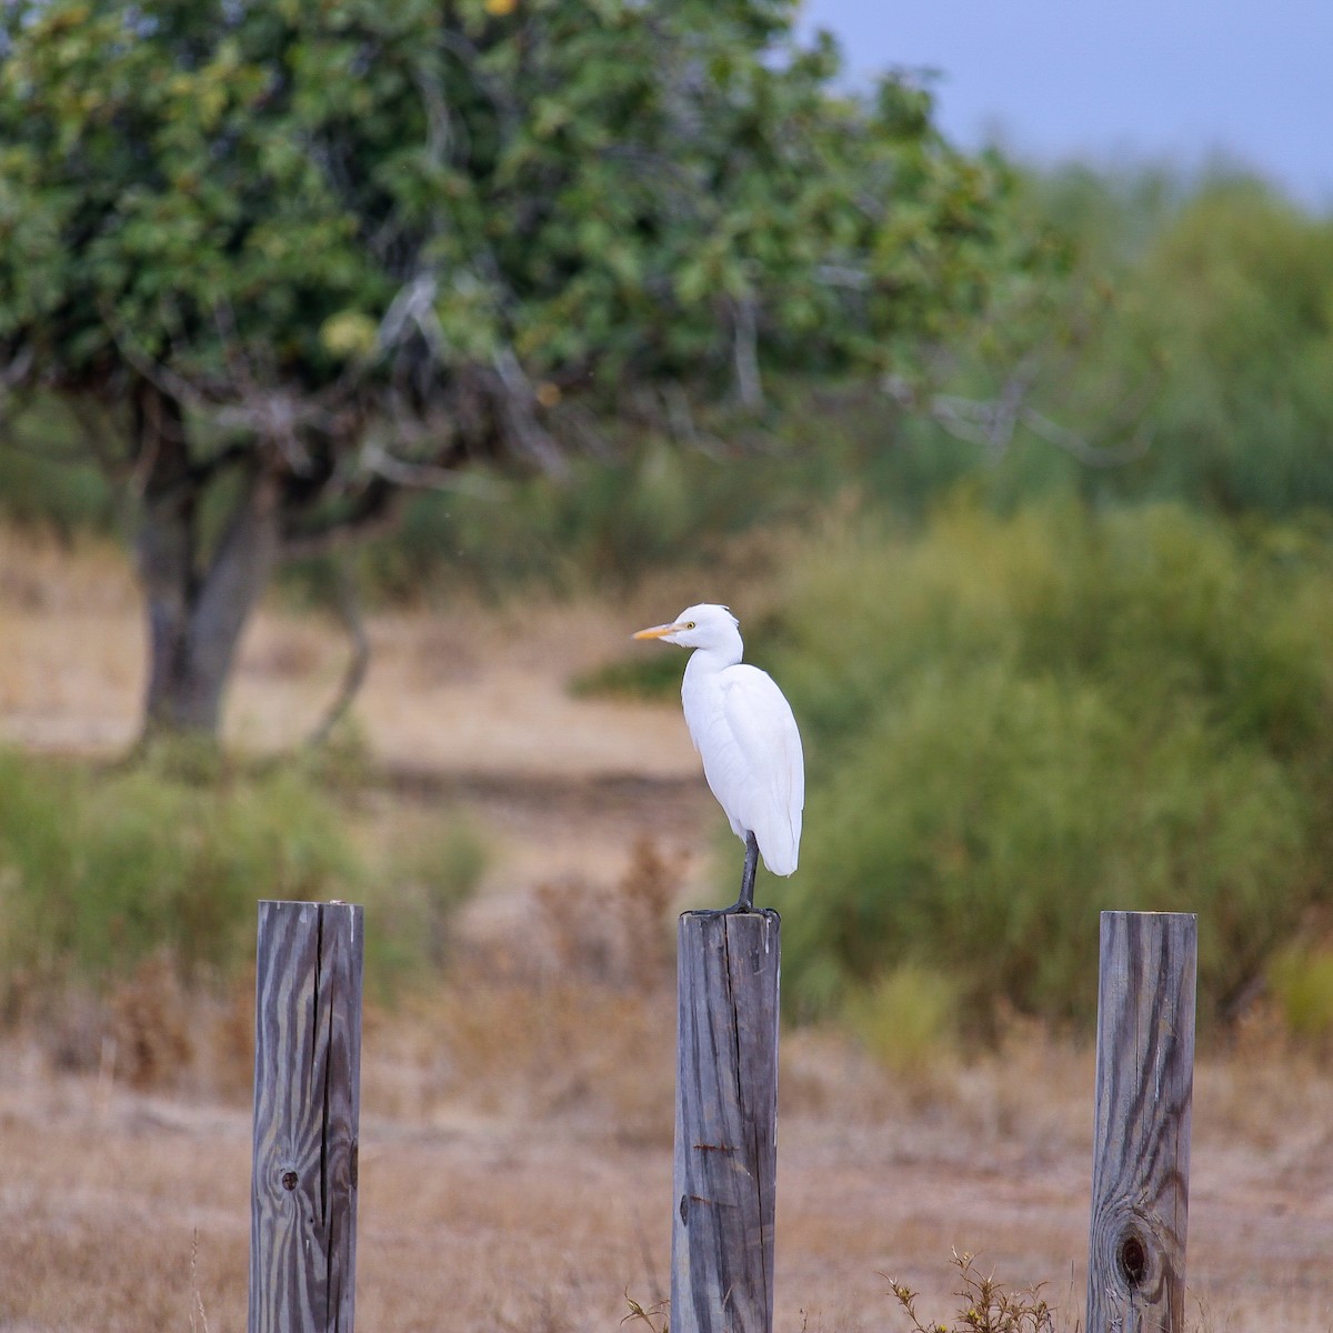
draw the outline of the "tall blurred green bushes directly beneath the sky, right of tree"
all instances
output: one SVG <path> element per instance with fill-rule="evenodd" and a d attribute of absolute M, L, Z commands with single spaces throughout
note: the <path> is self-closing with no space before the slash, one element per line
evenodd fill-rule
<path fill-rule="evenodd" d="M 1024 179 L 1002 211 L 1025 257 L 950 339 L 942 396 L 864 412 L 845 457 L 868 493 L 908 513 L 962 477 L 1001 509 L 1333 500 L 1333 221 L 1244 179 L 1086 169 Z"/>

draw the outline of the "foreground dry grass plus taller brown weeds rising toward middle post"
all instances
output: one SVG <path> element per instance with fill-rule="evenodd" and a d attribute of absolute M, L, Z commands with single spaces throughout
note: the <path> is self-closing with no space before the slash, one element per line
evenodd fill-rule
<path fill-rule="evenodd" d="M 668 1277 L 674 997 L 669 874 L 640 844 L 611 884 L 539 886 L 521 934 L 476 934 L 445 981 L 367 1018 L 359 1304 L 372 1328 L 612 1328 Z M 585 936 L 573 922 L 597 918 Z M 172 1008 L 175 1006 L 175 1008 Z M 135 1065 L 60 1073 L 0 1052 L 0 1328 L 243 1318 L 249 1122 L 223 1088 L 216 1001 L 148 966 L 112 1030 L 196 1037 L 171 1096 Z M 159 1032 L 159 1025 L 165 1032 Z M 117 1038 L 120 1040 L 120 1038 Z M 781 1333 L 906 1329 L 956 1309 L 953 1250 L 1081 1317 L 1092 1057 L 1010 1022 L 1000 1049 L 896 1078 L 845 1037 L 784 1037 Z M 235 1060 L 235 1056 L 232 1056 Z M 161 1066 L 157 1066 L 159 1069 Z M 143 1081 L 143 1080 L 140 1080 Z M 1333 1078 L 1257 1036 L 1201 1060 L 1193 1326 L 1326 1329 Z M 1270 1094 L 1282 1089 L 1280 1096 Z M 197 1234 L 197 1260 L 192 1260 Z M 96 1256 L 93 1260 L 91 1256 Z M 192 1276 L 193 1264 L 193 1276 Z M 135 1274 L 127 1280 L 125 1274 Z M 104 1298 L 100 1298 L 104 1297 Z M 92 1310 L 99 1316 L 95 1322 Z"/>

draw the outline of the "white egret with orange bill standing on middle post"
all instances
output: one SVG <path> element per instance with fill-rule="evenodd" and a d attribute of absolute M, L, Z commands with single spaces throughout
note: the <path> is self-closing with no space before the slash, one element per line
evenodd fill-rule
<path fill-rule="evenodd" d="M 680 688 L 685 725 L 713 796 L 745 844 L 740 897 L 722 910 L 749 912 L 760 853 L 774 874 L 790 874 L 801 845 L 805 762 L 792 705 L 768 672 L 741 663 L 741 633 L 725 607 L 688 607 L 635 639 L 694 649 Z"/>

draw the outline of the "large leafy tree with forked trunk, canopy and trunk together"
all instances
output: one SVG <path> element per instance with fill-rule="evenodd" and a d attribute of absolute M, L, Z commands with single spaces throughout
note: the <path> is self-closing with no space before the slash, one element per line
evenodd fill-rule
<path fill-rule="evenodd" d="M 794 0 L 11 0 L 0 372 L 135 499 L 145 733 L 216 732 L 280 561 L 639 385 L 901 376 L 1002 176 L 836 95 Z M 592 409 L 592 411 L 589 411 Z"/>

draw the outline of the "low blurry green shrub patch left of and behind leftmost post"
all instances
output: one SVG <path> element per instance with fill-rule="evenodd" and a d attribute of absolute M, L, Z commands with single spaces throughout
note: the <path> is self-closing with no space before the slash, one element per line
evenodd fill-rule
<path fill-rule="evenodd" d="M 361 878 L 336 812 L 295 773 L 216 785 L 152 768 L 93 781 L 0 754 L 7 969 L 125 976 L 165 949 L 187 976 L 233 972 L 255 902 L 349 897 Z"/>

